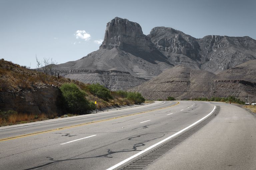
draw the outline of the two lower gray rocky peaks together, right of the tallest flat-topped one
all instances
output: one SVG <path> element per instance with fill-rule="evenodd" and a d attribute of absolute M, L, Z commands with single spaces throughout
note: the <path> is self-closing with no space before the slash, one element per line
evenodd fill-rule
<path fill-rule="evenodd" d="M 165 27 L 153 28 L 148 37 L 174 65 L 218 73 L 256 59 L 256 41 L 250 37 L 205 36 L 195 39 Z"/>

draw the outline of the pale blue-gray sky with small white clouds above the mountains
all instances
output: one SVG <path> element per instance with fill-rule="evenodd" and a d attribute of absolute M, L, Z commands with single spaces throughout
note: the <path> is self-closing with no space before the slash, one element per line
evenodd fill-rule
<path fill-rule="evenodd" d="M 165 26 L 195 38 L 206 35 L 256 39 L 255 0 L 0 0 L 0 58 L 36 67 L 59 64 L 99 49 L 115 17 L 141 25 L 148 35 Z"/>

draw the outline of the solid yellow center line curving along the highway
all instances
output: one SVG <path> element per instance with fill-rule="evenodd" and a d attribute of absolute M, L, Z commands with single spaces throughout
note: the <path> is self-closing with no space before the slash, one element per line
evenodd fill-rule
<path fill-rule="evenodd" d="M 174 104 L 172 106 L 178 105 L 179 103 L 180 102 L 177 102 L 176 104 Z M 79 125 L 73 125 L 73 126 L 68 126 L 68 127 L 63 127 L 63 128 L 57 128 L 57 129 L 39 131 L 39 132 L 34 132 L 34 133 L 29 133 L 29 134 L 23 134 L 23 135 L 20 135 L 20 136 L 13 136 L 13 137 L 8 137 L 8 138 L 3 138 L 3 139 L 0 139 L 0 142 L 1 141 L 6 141 L 6 140 L 17 139 L 17 138 L 21 138 L 21 137 L 26 137 L 26 136 L 32 136 L 32 135 L 36 135 L 36 134 L 42 134 L 42 133 L 57 131 L 57 130 L 63 130 L 63 129 L 68 129 L 68 128 L 79 127 L 79 126 L 93 124 L 93 123 L 98 123 L 98 122 L 109 121 L 109 120 L 113 120 L 113 119 L 117 119 L 117 118 L 123 118 L 123 117 L 127 117 L 127 116 L 138 115 L 138 114 L 141 114 L 141 113 L 152 112 L 152 111 L 156 111 L 156 110 L 160 110 L 160 109 L 169 108 L 169 107 L 172 107 L 172 106 L 167 106 L 167 107 L 163 107 L 163 108 L 159 108 L 159 109 L 153 109 L 153 110 L 149 110 L 149 111 L 145 111 L 145 112 L 134 113 L 134 114 L 130 114 L 130 115 L 119 116 L 119 117 L 115 117 L 115 118 L 104 119 L 104 120 L 100 120 L 100 121 L 87 122 L 87 123 L 83 123 L 83 124 L 79 124 Z"/>

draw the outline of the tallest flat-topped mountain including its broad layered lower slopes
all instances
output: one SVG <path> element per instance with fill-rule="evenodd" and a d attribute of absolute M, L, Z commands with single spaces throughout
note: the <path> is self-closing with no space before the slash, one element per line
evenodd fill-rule
<path fill-rule="evenodd" d="M 119 90 L 141 84 L 172 66 L 142 33 L 139 24 L 116 17 L 107 23 L 99 50 L 79 60 L 55 65 L 54 70 L 71 79 Z"/>

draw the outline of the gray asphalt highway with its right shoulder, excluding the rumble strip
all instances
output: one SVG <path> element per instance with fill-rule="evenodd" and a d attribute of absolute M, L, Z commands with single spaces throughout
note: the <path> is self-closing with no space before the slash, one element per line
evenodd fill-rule
<path fill-rule="evenodd" d="M 0 127 L 0 169 L 118 169 L 214 114 L 216 106 L 211 122 L 146 169 L 256 167 L 256 122 L 247 111 L 223 103 L 157 101 Z"/>

